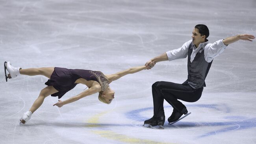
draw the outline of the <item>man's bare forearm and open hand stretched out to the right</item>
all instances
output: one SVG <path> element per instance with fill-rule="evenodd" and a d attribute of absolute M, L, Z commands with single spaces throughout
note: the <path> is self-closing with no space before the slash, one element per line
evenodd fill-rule
<path fill-rule="evenodd" d="M 248 35 L 248 34 L 243 34 L 243 35 L 236 35 L 236 36 L 230 36 L 228 38 L 225 38 L 223 40 L 223 43 L 225 45 L 228 44 L 232 44 L 234 42 L 236 42 L 237 40 L 248 40 L 248 41 L 252 41 L 252 39 L 255 39 L 255 36 L 253 35 Z"/>

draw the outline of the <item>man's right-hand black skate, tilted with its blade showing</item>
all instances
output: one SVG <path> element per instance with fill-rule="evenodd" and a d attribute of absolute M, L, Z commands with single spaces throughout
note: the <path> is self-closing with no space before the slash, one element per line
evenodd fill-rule
<path fill-rule="evenodd" d="M 172 115 L 168 118 L 168 122 L 169 124 L 174 124 L 175 122 L 178 122 L 179 120 L 181 120 L 182 118 L 184 117 L 187 117 L 189 114 L 191 113 L 187 113 L 187 108 L 183 108 L 181 112 L 179 112 L 177 109 L 173 109 L 173 113 Z M 183 116 L 182 118 L 180 118 L 182 115 L 185 115 Z"/>

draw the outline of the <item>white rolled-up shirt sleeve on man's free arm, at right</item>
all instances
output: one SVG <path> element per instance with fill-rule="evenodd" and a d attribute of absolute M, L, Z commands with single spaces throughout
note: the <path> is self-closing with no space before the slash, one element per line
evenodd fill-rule
<path fill-rule="evenodd" d="M 213 58 L 218 57 L 226 49 L 226 45 L 222 40 L 218 40 L 213 44 L 207 44 L 204 48 L 204 58 L 206 62 L 211 62 Z"/>

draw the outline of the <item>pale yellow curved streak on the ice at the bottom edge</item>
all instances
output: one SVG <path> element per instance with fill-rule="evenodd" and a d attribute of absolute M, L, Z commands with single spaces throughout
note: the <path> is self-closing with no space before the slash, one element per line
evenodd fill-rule
<path fill-rule="evenodd" d="M 119 142 L 126 142 L 129 144 L 171 144 L 165 142 L 156 142 L 152 140 L 138 139 L 133 137 L 128 137 L 127 135 L 117 134 L 113 131 L 93 131 L 93 133 L 100 135 L 101 137 L 117 140 Z"/>

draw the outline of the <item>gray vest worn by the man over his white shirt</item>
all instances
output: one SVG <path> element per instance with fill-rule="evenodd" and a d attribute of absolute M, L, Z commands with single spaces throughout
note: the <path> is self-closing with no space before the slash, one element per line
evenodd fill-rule
<path fill-rule="evenodd" d="M 202 49 L 202 48 L 201 48 Z M 193 42 L 188 47 L 188 58 L 187 58 L 187 80 L 183 84 L 189 84 L 193 89 L 205 87 L 204 82 L 208 71 L 211 67 L 211 63 L 206 62 L 204 58 L 204 49 L 199 50 L 193 62 L 190 62 L 191 53 L 193 51 Z"/>

